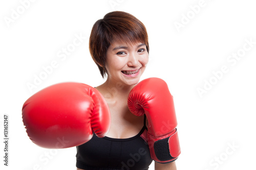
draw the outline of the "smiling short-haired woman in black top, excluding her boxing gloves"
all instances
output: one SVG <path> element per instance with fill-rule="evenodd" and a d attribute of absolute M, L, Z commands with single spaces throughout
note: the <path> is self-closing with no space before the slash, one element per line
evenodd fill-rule
<path fill-rule="evenodd" d="M 77 147 L 77 169 L 148 169 L 150 150 L 143 139 L 145 117 L 135 116 L 127 97 L 139 82 L 148 63 L 145 26 L 129 13 L 114 11 L 95 22 L 90 53 L 106 81 L 96 89 L 111 112 L 111 127 L 103 138 L 93 138 Z M 175 161 L 155 162 L 155 169 L 176 169 Z"/>

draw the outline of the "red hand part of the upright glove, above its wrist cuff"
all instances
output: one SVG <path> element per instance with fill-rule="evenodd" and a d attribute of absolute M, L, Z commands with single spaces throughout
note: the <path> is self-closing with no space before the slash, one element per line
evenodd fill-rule
<path fill-rule="evenodd" d="M 142 109 L 135 106 L 140 105 Z M 148 78 L 139 82 L 130 92 L 130 111 L 148 119 L 148 134 L 161 136 L 177 126 L 173 96 L 167 84 L 159 78 Z"/>

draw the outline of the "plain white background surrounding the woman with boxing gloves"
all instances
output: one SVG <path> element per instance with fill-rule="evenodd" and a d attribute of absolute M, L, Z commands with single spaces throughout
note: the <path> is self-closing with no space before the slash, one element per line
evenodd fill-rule
<path fill-rule="evenodd" d="M 36 91 L 59 82 L 104 82 L 91 59 L 88 41 L 93 23 L 113 10 L 125 11 L 147 28 L 150 63 L 142 79 L 165 80 L 175 99 L 181 155 L 178 169 L 255 169 L 256 10 L 251 0 L 196 1 L 21 1 L 0 3 L 1 169 L 76 169 L 76 149 L 39 148 L 22 122 L 23 103 Z M 190 7 L 191 6 L 191 7 Z M 23 10 L 24 9 L 24 10 Z M 14 16 L 13 11 L 20 14 Z M 184 16 L 188 15 L 186 19 Z M 7 18 L 14 19 L 7 22 Z M 10 20 L 9 20 L 10 21 Z M 183 23 L 177 29 L 175 23 Z M 63 61 L 57 57 L 75 35 L 84 41 Z M 246 40 L 254 42 L 243 57 Z M 52 61 L 51 74 L 31 91 Z M 228 71 L 213 74 L 221 67 Z M 217 76 L 218 77 L 218 76 Z M 205 85 L 205 82 L 213 84 Z M 207 89 L 200 96 L 198 88 Z M 3 118 L 9 115 L 9 166 L 4 166 Z M 49 117 L 50 118 L 50 117 Z M 230 145 L 235 147 L 230 148 Z M 49 152 L 50 158 L 45 154 Z M 217 161 L 219 159 L 219 161 Z M 34 168 L 37 169 L 37 168 Z M 150 166 L 154 169 L 154 163 Z"/>

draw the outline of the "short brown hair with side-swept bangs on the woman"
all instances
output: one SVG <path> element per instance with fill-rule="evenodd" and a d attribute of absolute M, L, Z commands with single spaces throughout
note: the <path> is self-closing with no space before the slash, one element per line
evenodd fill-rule
<path fill-rule="evenodd" d="M 91 56 L 102 78 L 108 74 L 105 68 L 106 52 L 116 39 L 128 43 L 145 43 L 147 53 L 150 51 L 146 28 L 139 19 L 122 11 L 106 14 L 94 23 L 89 40 Z"/>

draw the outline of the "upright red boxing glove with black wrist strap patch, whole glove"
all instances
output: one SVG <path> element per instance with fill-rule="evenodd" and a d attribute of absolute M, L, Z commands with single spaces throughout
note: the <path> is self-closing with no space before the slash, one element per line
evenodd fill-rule
<path fill-rule="evenodd" d="M 160 163 L 175 161 L 180 155 L 180 144 L 173 96 L 167 84 L 159 78 L 142 80 L 131 90 L 128 107 L 137 116 L 146 114 L 152 159 Z"/>

